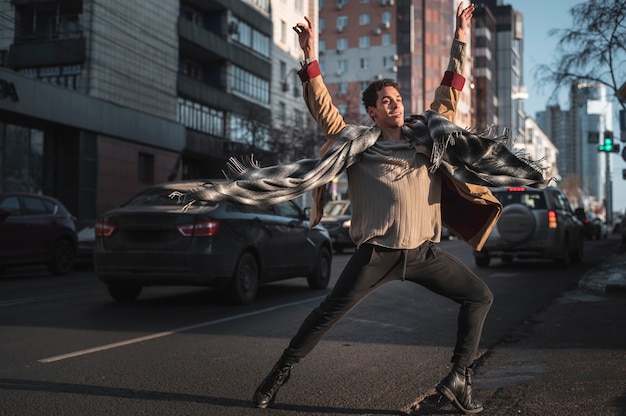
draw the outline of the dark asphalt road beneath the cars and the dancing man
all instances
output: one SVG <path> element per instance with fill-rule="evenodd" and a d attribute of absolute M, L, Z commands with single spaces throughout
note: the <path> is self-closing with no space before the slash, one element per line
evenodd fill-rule
<path fill-rule="evenodd" d="M 589 241 L 583 263 L 566 269 L 544 261 L 477 269 L 464 243 L 441 243 L 495 295 L 481 355 L 519 337 L 616 244 Z M 348 258 L 335 256 L 331 285 Z M 62 278 L 20 270 L 0 288 L 0 415 L 410 415 L 447 373 L 456 328 L 454 303 L 391 283 L 336 325 L 275 406 L 260 410 L 251 408 L 254 389 L 327 293 L 304 279 L 264 286 L 247 306 L 198 288 L 147 288 L 118 304 L 89 270 Z"/>

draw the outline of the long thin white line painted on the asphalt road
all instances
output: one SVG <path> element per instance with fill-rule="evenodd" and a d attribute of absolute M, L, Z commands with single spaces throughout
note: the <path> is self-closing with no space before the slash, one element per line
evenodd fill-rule
<path fill-rule="evenodd" d="M 153 340 L 153 339 L 156 339 L 156 338 L 163 338 L 163 337 L 166 337 L 166 336 L 169 336 L 169 335 L 173 335 L 173 334 L 176 334 L 176 333 L 179 333 L 179 332 L 191 331 L 193 329 L 202 328 L 202 327 L 205 327 L 205 326 L 222 324 L 224 322 L 235 321 L 237 319 L 247 318 L 249 316 L 254 316 L 254 315 L 261 315 L 261 314 L 264 314 L 264 313 L 267 313 L 267 312 L 272 312 L 272 311 L 275 311 L 275 310 L 278 310 L 278 309 L 288 308 L 288 307 L 291 307 L 291 306 L 296 306 L 296 305 L 300 305 L 300 304 L 308 303 L 308 302 L 313 302 L 313 301 L 319 301 L 319 300 L 321 300 L 323 298 L 325 298 L 325 296 L 318 296 L 318 297 L 315 297 L 315 298 L 305 299 L 305 300 L 301 300 L 301 301 L 298 301 L 298 302 L 285 303 L 285 304 L 274 306 L 274 307 L 271 307 L 271 308 L 261 309 L 259 311 L 255 311 L 255 312 L 242 313 L 240 315 L 234 315 L 234 316 L 230 316 L 228 318 L 216 319 L 214 321 L 207 321 L 207 322 L 202 322 L 202 323 L 196 324 L 196 325 L 189 325 L 189 326 L 185 326 L 185 327 L 182 327 L 182 328 L 176 328 L 176 329 L 173 329 L 171 331 L 159 332 L 159 333 L 152 334 L 152 335 L 146 335 L 146 336 L 143 336 L 143 337 L 128 339 L 126 341 L 114 342 L 112 344 L 106 344 L 106 345 L 101 345 L 99 347 L 88 348 L 86 350 L 80 350 L 80 351 L 70 352 L 70 353 L 67 353 L 67 354 L 56 355 L 54 357 L 42 358 L 41 360 L 37 360 L 37 362 L 39 362 L 39 363 L 53 363 L 55 361 L 61 361 L 61 360 L 65 360 L 65 359 L 68 359 L 68 358 L 79 357 L 81 355 L 92 354 L 94 352 L 100 352 L 100 351 L 110 350 L 110 349 L 113 349 L 113 348 L 123 347 L 123 346 L 126 346 L 126 345 L 136 344 L 136 343 L 139 343 L 139 342 L 150 341 L 150 340 Z"/>

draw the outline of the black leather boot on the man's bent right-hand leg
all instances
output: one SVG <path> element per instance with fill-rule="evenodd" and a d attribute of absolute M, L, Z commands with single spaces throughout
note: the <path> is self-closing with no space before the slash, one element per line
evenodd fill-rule
<path fill-rule="evenodd" d="M 438 405 L 448 399 L 454 407 L 465 413 L 480 413 L 483 405 L 472 398 L 472 367 L 454 367 L 437 385 Z"/>

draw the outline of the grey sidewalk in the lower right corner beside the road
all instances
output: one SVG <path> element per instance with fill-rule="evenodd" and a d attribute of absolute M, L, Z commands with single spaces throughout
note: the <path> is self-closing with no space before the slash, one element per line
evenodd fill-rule
<path fill-rule="evenodd" d="M 590 270 L 476 368 L 483 415 L 626 415 L 626 250 Z"/>

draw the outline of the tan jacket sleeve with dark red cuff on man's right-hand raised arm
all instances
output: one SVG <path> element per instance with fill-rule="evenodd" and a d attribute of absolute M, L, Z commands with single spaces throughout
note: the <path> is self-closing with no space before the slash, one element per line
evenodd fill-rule
<path fill-rule="evenodd" d="M 465 43 L 454 40 L 450 48 L 450 61 L 441 85 L 435 90 L 435 99 L 430 109 L 438 112 L 450 121 L 454 121 L 456 105 L 459 102 L 461 90 L 465 85 L 463 66 L 465 63 Z"/>

